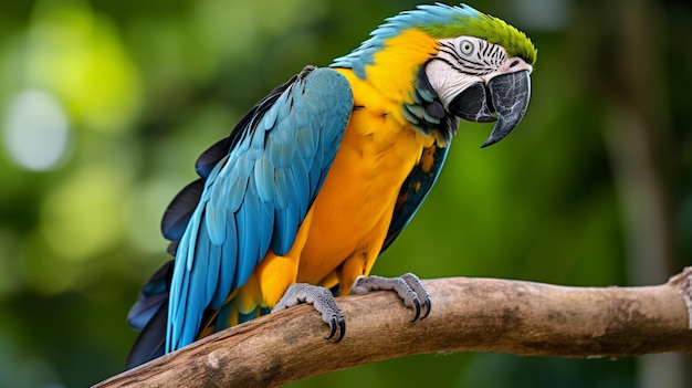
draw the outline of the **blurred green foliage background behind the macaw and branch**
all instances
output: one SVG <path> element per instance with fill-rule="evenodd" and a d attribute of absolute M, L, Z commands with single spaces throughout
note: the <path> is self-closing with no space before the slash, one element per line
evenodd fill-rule
<path fill-rule="evenodd" d="M 487 149 L 492 125 L 462 123 L 438 186 L 374 272 L 605 286 L 690 265 L 688 2 L 471 4 L 537 45 L 528 113 Z M 197 155 L 303 65 L 327 65 L 415 6 L 1 2 L 0 387 L 120 371 L 136 336 L 127 311 L 168 260 L 160 216 Z M 32 137 L 18 122 L 64 125 Z M 31 167 L 40 157 L 50 162 Z M 292 386 L 633 387 L 639 364 L 422 355 Z"/>

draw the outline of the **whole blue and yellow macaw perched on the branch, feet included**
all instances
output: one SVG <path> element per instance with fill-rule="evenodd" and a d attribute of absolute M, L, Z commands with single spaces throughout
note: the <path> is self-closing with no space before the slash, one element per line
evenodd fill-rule
<path fill-rule="evenodd" d="M 518 125 L 535 61 L 504 21 L 438 3 L 387 19 L 329 67 L 272 91 L 199 157 L 200 178 L 166 210 L 175 261 L 130 311 L 141 333 L 127 367 L 301 302 L 339 340 L 333 295 L 394 290 L 413 321 L 426 317 L 415 275 L 370 269 L 434 183 L 459 118 L 496 122 L 483 146 Z"/>

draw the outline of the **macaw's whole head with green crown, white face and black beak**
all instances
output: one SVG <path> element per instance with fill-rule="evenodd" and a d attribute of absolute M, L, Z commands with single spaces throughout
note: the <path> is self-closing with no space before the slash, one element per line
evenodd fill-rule
<path fill-rule="evenodd" d="M 387 19 L 332 66 L 353 69 L 392 98 L 408 84 L 403 117 L 441 144 L 457 132 L 457 120 L 440 125 L 445 117 L 496 122 L 486 147 L 524 117 L 536 56 L 531 40 L 504 21 L 465 4 L 437 3 Z"/>

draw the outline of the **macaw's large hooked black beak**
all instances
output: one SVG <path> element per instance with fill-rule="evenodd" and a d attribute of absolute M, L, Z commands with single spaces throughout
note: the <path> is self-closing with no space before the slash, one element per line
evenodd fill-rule
<path fill-rule="evenodd" d="M 520 124 L 531 98 L 531 77 L 527 71 L 499 75 L 487 84 L 469 86 L 450 103 L 449 111 L 460 118 L 490 123 L 496 120 L 493 132 L 481 147 L 487 147 L 507 136 Z M 494 113 L 496 115 L 494 115 Z"/>

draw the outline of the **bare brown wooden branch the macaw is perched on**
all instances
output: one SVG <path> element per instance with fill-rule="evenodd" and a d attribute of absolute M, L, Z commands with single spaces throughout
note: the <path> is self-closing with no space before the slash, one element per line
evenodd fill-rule
<path fill-rule="evenodd" d="M 625 357 L 692 353 L 692 268 L 667 284 L 566 287 L 493 279 L 423 281 L 430 316 L 391 292 L 339 297 L 346 337 L 301 305 L 203 338 L 95 387 L 273 387 L 308 376 L 421 353 Z"/>

